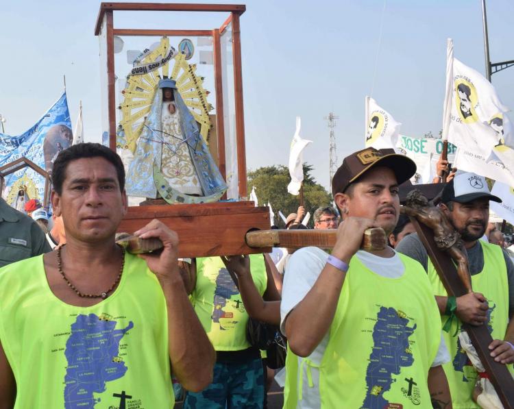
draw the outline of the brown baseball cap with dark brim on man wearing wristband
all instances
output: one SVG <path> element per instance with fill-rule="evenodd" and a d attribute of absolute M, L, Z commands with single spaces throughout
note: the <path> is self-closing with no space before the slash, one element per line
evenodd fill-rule
<path fill-rule="evenodd" d="M 356 151 L 343 160 L 343 164 L 332 177 L 332 195 L 343 193 L 358 177 L 376 166 L 391 169 L 398 184 L 402 184 L 416 173 L 416 164 L 407 156 L 395 153 L 394 149 L 369 147 Z"/>

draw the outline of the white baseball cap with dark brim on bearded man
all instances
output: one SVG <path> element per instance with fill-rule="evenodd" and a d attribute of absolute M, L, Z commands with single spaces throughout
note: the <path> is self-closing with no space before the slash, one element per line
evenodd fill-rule
<path fill-rule="evenodd" d="M 489 197 L 489 200 L 502 203 L 498 196 L 491 195 L 485 177 L 472 172 L 457 172 L 455 177 L 444 186 L 441 201 L 448 203 L 468 203 L 480 197 Z"/>

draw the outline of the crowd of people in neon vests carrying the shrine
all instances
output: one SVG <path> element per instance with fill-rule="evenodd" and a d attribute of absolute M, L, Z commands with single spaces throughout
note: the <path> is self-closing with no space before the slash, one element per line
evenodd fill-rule
<path fill-rule="evenodd" d="M 336 208 L 313 215 L 315 230 L 336 230 L 331 251 L 179 259 L 180 238 L 158 220 L 134 234 L 162 251 L 115 243 L 127 212 L 116 153 L 64 149 L 50 230 L 37 201 L 23 214 L 0 199 L 0 408 L 172 408 L 175 397 L 184 408 L 263 408 L 275 376 L 284 408 L 480 408 L 458 333 L 486 325 L 491 356 L 512 371 L 513 255 L 489 223 L 489 201 L 501 199 L 480 175 L 448 175 L 438 206 L 473 286 L 452 297 L 400 214 L 399 186 L 415 171 L 392 149 L 347 156 L 332 179 Z M 286 228 L 306 228 L 304 216 L 300 206 Z M 387 247 L 361 249 L 371 227 Z M 286 347 L 284 369 L 271 346 Z"/>

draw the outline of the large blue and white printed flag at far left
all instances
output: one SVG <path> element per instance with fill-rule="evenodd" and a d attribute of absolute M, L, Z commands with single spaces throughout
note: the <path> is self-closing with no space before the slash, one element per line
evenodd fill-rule
<path fill-rule="evenodd" d="M 49 172 L 59 152 L 70 147 L 72 142 L 70 112 L 64 92 L 28 131 L 19 136 L 0 133 L 0 166 L 19 158 L 27 158 Z M 28 167 L 5 177 L 3 197 L 11 206 L 16 207 L 20 190 L 25 191 L 25 201 L 42 201 L 45 178 Z"/>

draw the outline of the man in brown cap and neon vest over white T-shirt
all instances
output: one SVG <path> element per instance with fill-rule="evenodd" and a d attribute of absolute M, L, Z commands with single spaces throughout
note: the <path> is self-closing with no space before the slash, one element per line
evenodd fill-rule
<path fill-rule="evenodd" d="M 344 223 L 332 253 L 299 249 L 284 278 L 284 408 L 451 408 L 441 367 L 448 351 L 426 273 L 391 247 L 360 249 L 368 228 L 393 231 L 398 185 L 415 170 L 393 149 L 367 148 L 336 171 Z"/>

